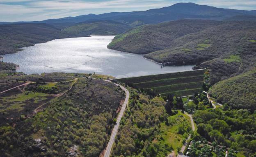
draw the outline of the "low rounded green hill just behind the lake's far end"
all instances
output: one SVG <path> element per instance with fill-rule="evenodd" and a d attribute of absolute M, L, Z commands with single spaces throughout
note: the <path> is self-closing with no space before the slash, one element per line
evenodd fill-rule
<path fill-rule="evenodd" d="M 67 33 L 80 35 L 117 35 L 131 27 L 112 20 L 86 21 L 64 29 Z"/>

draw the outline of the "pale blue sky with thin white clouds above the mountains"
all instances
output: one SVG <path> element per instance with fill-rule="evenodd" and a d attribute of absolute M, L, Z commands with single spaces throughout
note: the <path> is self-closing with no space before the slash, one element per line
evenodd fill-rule
<path fill-rule="evenodd" d="M 0 21 L 40 21 L 89 13 L 142 11 L 168 7 L 179 2 L 256 10 L 256 0 L 0 0 Z"/>

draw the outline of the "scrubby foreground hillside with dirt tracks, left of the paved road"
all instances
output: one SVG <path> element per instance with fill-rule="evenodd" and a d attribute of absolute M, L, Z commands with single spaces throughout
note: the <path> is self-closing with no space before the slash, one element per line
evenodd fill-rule
<path fill-rule="evenodd" d="M 110 82 L 71 77 L 75 75 L 0 77 L 9 88 L 16 84 L 15 79 L 24 84 L 22 78 L 37 78 L 26 87 L 0 94 L 1 157 L 100 155 L 124 94 Z M 11 84 L 11 80 L 15 82 Z"/>

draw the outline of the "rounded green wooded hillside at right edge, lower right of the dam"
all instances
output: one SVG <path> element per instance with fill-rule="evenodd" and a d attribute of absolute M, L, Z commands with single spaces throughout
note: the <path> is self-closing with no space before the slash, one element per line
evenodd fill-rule
<path fill-rule="evenodd" d="M 256 69 L 215 84 L 209 94 L 232 108 L 256 109 Z"/>

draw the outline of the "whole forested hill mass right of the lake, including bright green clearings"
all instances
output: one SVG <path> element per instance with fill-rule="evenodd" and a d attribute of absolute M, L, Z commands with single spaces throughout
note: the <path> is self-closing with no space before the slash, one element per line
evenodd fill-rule
<path fill-rule="evenodd" d="M 145 54 L 169 65 L 210 69 L 211 84 L 256 63 L 256 22 L 177 20 L 117 35 L 110 49 Z M 242 64 L 241 64 L 242 62 Z"/>

